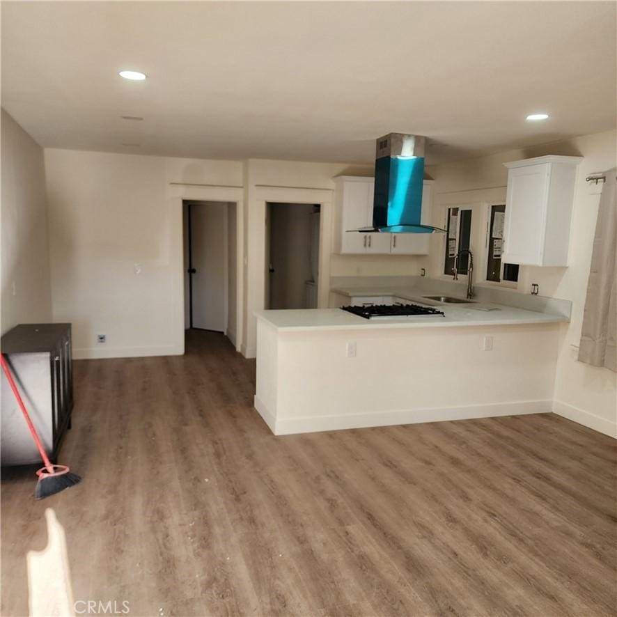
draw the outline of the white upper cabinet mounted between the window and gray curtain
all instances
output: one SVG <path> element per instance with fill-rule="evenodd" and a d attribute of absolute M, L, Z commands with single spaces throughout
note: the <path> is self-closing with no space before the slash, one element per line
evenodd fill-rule
<path fill-rule="evenodd" d="M 502 263 L 567 266 L 570 219 L 581 157 L 547 156 L 508 168 Z"/>

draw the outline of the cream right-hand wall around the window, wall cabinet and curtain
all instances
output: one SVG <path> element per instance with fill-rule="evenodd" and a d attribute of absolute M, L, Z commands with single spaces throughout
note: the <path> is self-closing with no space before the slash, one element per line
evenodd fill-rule
<path fill-rule="evenodd" d="M 600 195 L 585 178 L 590 173 L 606 171 L 616 165 L 617 133 L 609 131 L 581 136 L 568 141 L 536 146 L 525 150 L 466 159 L 430 168 L 437 194 L 435 210 L 460 199 L 469 202 L 505 200 L 507 170 L 504 162 L 542 155 L 582 156 L 572 212 L 569 267 L 531 267 L 520 269 L 520 292 L 529 292 L 530 283 L 538 283 L 540 295 L 570 299 L 572 320 L 564 328 L 557 362 L 554 411 L 609 435 L 617 435 L 617 375 L 605 368 L 581 364 L 572 345 L 579 344 L 584 300 L 591 263 L 593 234 Z M 505 203 L 505 201 L 502 201 Z M 442 208 L 439 208 L 439 205 Z M 476 237 L 482 230 L 476 228 Z M 442 267 L 439 237 L 433 237 L 430 273 L 437 276 Z"/>

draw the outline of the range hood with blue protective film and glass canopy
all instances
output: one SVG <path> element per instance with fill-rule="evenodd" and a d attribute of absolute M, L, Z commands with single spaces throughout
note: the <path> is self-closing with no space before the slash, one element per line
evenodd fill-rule
<path fill-rule="evenodd" d="M 377 139 L 373 226 L 358 231 L 446 232 L 421 222 L 424 144 L 425 137 L 404 133 Z"/>

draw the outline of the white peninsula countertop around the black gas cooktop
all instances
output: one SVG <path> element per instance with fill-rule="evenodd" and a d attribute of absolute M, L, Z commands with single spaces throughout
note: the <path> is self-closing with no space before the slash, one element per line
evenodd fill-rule
<path fill-rule="evenodd" d="M 428 302 L 425 302 L 425 304 L 428 304 Z M 503 304 L 491 304 L 488 302 L 478 302 L 473 305 L 460 304 L 458 306 L 430 302 L 430 306 L 444 311 L 445 316 L 412 315 L 404 318 L 389 317 L 365 319 L 358 315 L 343 311 L 341 308 L 256 311 L 255 315 L 259 320 L 264 320 L 276 329 L 285 331 L 499 326 L 546 324 L 568 321 L 568 318 L 563 315 L 537 313 L 536 311 L 526 311 L 523 308 L 513 308 L 504 306 Z M 473 308 L 471 308 L 472 306 Z M 499 310 L 483 310 L 487 308 L 499 308 Z"/>

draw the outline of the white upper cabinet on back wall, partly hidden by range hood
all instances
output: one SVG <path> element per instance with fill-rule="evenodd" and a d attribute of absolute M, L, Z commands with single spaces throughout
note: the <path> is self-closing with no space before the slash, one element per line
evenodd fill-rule
<path fill-rule="evenodd" d="M 428 233 L 358 233 L 349 231 L 373 225 L 375 180 L 340 175 L 336 182 L 335 251 L 357 255 L 427 255 Z M 430 221 L 432 180 L 424 181 L 422 222 Z M 396 239 L 395 239 L 396 238 Z"/>

